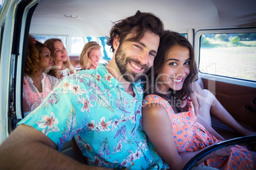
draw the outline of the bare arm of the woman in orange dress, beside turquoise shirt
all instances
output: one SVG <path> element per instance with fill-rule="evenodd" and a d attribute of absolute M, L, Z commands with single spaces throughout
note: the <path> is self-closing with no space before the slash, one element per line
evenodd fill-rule
<path fill-rule="evenodd" d="M 202 150 L 196 152 L 185 152 L 179 154 L 173 138 L 173 128 L 166 109 L 159 104 L 153 103 L 143 107 L 142 126 L 146 134 L 152 141 L 153 146 L 162 159 L 168 164 L 170 169 L 183 169 L 188 160 Z M 203 162 L 210 157 L 230 155 L 231 149 L 224 148 L 213 152 L 197 162 Z"/>

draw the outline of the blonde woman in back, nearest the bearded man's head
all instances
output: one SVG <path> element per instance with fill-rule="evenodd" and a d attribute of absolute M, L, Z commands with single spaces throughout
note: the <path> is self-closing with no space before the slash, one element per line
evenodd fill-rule
<path fill-rule="evenodd" d="M 101 58 L 101 46 L 95 41 L 87 42 L 79 58 L 82 70 L 96 69 Z"/>

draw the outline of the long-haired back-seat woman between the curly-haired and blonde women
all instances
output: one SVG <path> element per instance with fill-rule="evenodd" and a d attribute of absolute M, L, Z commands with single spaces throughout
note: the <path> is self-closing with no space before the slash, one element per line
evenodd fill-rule
<path fill-rule="evenodd" d="M 60 39 L 47 39 L 43 44 L 50 49 L 53 58 L 53 67 L 47 72 L 48 74 L 62 81 L 76 72 L 73 65 L 69 63 L 67 50 Z"/>

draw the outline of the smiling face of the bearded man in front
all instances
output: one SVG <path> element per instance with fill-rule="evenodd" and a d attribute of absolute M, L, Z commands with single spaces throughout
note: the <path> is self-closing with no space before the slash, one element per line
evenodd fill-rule
<path fill-rule="evenodd" d="M 127 38 L 131 38 L 131 35 Z M 124 41 L 118 46 L 115 60 L 125 81 L 138 81 L 152 67 L 159 41 L 157 34 L 146 31 L 139 41 Z"/>

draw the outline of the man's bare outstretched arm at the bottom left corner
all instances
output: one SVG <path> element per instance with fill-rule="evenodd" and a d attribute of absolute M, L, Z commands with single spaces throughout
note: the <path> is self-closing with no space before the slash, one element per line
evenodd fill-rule
<path fill-rule="evenodd" d="M 50 138 L 21 124 L 0 146 L 1 169 L 104 169 L 85 166 L 58 152 Z"/>

